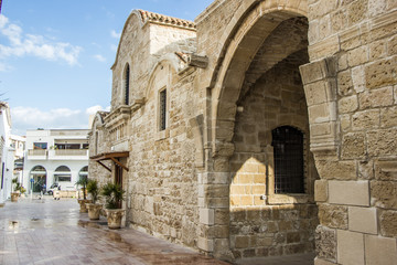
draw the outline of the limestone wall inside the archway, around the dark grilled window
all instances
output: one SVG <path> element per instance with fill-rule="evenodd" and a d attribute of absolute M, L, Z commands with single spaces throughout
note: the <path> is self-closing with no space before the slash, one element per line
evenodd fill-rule
<path fill-rule="evenodd" d="M 305 60 L 307 53 L 301 51 L 278 63 L 239 104 L 229 193 L 230 247 L 235 258 L 314 251 L 318 212 L 313 183 L 318 176 L 309 152 L 308 110 L 298 70 Z M 298 197 L 275 195 L 275 188 L 268 187 L 275 181 L 271 130 L 285 125 L 299 128 L 307 137 L 305 194 Z M 261 195 L 268 198 L 264 200 Z M 293 203 L 292 198 L 304 198 L 304 203 Z"/>

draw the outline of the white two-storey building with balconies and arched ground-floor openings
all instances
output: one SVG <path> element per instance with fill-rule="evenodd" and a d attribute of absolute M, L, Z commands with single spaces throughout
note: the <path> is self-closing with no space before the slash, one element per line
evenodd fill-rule
<path fill-rule="evenodd" d="M 88 174 L 88 129 L 36 129 L 26 131 L 23 187 L 40 192 L 58 183 L 75 190 L 76 181 Z"/>

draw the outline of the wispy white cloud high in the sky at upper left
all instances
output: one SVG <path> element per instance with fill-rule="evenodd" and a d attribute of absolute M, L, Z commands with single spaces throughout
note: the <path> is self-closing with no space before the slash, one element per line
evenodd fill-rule
<path fill-rule="evenodd" d="M 1 35 L 9 41 L 9 45 L 0 44 L 1 61 L 10 56 L 32 55 L 49 61 L 64 61 L 69 65 L 78 64 L 77 59 L 82 47 L 64 42 L 51 42 L 49 38 L 42 35 L 23 34 L 21 26 L 10 23 L 2 14 L 0 14 Z M 4 68 L 7 67 L 1 67 L 0 71 Z"/>

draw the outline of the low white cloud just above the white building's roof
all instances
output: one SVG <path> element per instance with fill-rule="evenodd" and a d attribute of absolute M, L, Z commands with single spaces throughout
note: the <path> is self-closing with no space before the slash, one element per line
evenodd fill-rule
<path fill-rule="evenodd" d="M 109 110 L 107 107 L 106 110 Z M 35 107 L 11 108 L 12 134 L 25 135 L 26 129 L 87 129 L 89 116 L 104 108 L 99 105 L 85 110 L 55 108 L 41 110 Z"/>

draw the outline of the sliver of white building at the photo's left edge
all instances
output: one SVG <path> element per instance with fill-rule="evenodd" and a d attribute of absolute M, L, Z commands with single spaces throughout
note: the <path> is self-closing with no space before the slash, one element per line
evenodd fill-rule
<path fill-rule="evenodd" d="M 11 147 L 11 116 L 7 103 L 0 102 L 0 203 L 10 198 L 13 178 L 13 152 Z"/>

